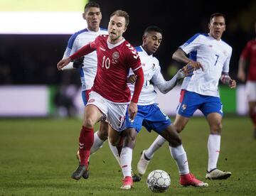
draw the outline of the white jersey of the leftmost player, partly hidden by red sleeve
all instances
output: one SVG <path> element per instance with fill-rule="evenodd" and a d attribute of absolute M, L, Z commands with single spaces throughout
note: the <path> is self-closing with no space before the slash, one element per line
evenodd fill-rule
<path fill-rule="evenodd" d="M 95 40 L 95 38 L 101 34 L 107 34 L 107 30 L 100 28 L 99 31 L 90 31 L 85 28 L 73 34 L 68 40 L 68 46 L 65 50 L 63 58 L 68 58 L 78 51 L 82 46 Z M 80 77 L 82 83 L 82 91 L 91 89 L 95 80 L 97 72 L 97 53 L 96 50 L 90 54 L 85 55 L 83 62 L 84 66 L 80 68 Z"/>

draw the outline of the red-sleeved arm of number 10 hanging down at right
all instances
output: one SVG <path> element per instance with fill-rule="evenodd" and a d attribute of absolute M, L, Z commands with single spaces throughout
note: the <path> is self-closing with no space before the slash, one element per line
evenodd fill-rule
<path fill-rule="evenodd" d="M 130 119 L 132 120 L 134 119 L 138 111 L 137 103 L 139 101 L 139 94 L 142 91 L 142 86 L 144 83 L 144 73 L 142 70 L 142 66 L 140 66 L 137 70 L 133 70 L 133 72 L 134 75 L 136 75 L 137 80 L 134 85 L 134 94 L 128 107 L 128 114 Z"/>

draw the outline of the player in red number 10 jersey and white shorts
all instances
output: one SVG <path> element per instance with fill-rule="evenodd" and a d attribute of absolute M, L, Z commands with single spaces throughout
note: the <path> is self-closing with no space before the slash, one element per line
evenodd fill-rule
<path fill-rule="evenodd" d="M 113 145 L 119 141 L 119 131 L 126 129 L 124 126 L 125 112 L 130 101 L 130 91 L 127 87 L 129 68 L 132 68 L 134 74 L 137 75 L 137 80 L 128 113 L 132 120 L 137 114 L 137 102 L 142 90 L 144 74 L 137 51 L 122 37 L 128 24 L 129 15 L 126 11 L 114 11 L 110 15 L 107 29 L 109 36 L 98 36 L 94 41 L 83 46 L 69 58 L 60 60 L 57 64 L 58 70 L 61 70 L 71 60 L 97 51 L 97 74 L 85 107 L 84 121 L 80 131 L 80 164 L 71 176 L 75 180 L 79 180 L 87 168 L 87 159 L 93 143 L 93 126 L 97 121 L 107 119 L 112 127 L 109 130 L 109 140 Z M 125 156 L 124 153 L 122 154 Z M 124 183 L 132 185 L 132 175 L 124 176 Z"/>

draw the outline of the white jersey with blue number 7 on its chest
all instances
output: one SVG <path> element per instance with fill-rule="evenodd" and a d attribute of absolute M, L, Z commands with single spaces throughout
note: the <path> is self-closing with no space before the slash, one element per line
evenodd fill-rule
<path fill-rule="evenodd" d="M 222 72 L 228 73 L 232 48 L 223 40 L 208 34 L 196 34 L 180 46 L 191 60 L 200 62 L 204 71 L 196 70 L 185 77 L 181 89 L 198 94 L 220 97 L 218 82 Z"/>

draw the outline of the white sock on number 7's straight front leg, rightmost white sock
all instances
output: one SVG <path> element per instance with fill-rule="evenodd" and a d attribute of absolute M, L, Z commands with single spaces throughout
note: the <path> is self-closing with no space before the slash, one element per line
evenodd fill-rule
<path fill-rule="evenodd" d="M 210 134 L 208 137 L 208 171 L 217 168 L 220 155 L 220 135 Z"/>

